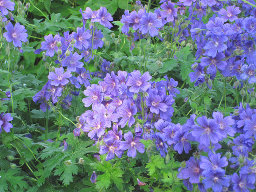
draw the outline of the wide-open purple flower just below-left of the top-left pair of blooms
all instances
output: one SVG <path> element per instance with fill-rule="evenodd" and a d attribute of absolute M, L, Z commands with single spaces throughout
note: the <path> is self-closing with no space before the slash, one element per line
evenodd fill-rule
<path fill-rule="evenodd" d="M 89 48 L 89 40 L 92 35 L 90 35 L 90 32 L 85 31 L 84 27 L 76 28 L 76 32 L 72 33 L 72 37 L 76 40 L 74 47 L 76 47 L 77 49 Z"/>

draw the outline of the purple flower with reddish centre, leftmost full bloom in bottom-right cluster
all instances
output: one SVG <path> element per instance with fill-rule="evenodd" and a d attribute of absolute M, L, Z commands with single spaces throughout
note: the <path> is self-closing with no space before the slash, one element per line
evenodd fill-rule
<path fill-rule="evenodd" d="M 203 169 L 199 166 L 200 161 L 195 160 L 195 157 L 190 157 L 186 161 L 186 167 L 180 171 L 180 174 L 177 176 L 180 179 L 188 179 L 190 183 L 199 183 L 199 177 L 202 175 Z"/>

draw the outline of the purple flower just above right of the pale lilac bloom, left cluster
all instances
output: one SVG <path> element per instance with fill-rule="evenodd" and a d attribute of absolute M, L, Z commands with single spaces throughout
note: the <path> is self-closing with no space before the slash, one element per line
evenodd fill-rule
<path fill-rule="evenodd" d="M 61 61 L 61 64 L 63 67 L 67 67 L 68 71 L 76 71 L 77 68 L 81 68 L 83 67 L 83 62 L 79 61 L 81 60 L 82 56 L 79 55 L 77 52 L 74 53 L 74 55 L 72 53 L 70 53 L 70 55 L 64 60 Z"/>

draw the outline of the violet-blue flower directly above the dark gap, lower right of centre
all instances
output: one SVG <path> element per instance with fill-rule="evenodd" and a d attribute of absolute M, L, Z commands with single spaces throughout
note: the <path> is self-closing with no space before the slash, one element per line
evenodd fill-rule
<path fill-rule="evenodd" d="M 182 153 L 183 148 L 185 153 L 189 153 L 191 150 L 191 145 L 189 141 L 194 141 L 194 136 L 188 131 L 178 131 L 173 137 L 173 141 L 176 143 L 174 149 L 178 151 L 179 154 Z"/>

